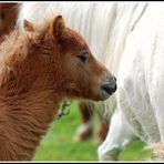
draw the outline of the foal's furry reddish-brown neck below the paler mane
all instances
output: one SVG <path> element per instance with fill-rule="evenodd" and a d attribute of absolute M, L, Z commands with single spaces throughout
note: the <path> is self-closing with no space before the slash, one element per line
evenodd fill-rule
<path fill-rule="evenodd" d="M 51 69 L 37 55 L 27 58 L 19 71 L 2 72 L 0 160 L 31 160 L 62 99 L 60 84 L 47 75 Z"/>

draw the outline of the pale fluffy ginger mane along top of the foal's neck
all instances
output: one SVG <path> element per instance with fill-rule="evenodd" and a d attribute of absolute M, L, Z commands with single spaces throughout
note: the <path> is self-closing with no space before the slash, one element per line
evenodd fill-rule
<path fill-rule="evenodd" d="M 27 32 L 14 29 L 0 44 L 0 69 L 8 68 L 14 70 L 16 64 L 21 64 L 27 55 L 32 51 L 33 44 L 40 47 L 43 35 L 48 31 L 52 17 L 43 19 L 35 24 L 35 31 Z M 51 38 L 47 38 L 50 42 Z"/>

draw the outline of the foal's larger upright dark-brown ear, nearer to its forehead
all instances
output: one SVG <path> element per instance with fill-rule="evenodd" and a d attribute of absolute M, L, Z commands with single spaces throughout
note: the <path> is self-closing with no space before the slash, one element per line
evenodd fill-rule
<path fill-rule="evenodd" d="M 62 16 L 57 16 L 50 24 L 50 34 L 54 35 L 55 38 L 59 38 L 62 35 L 64 29 L 65 23 Z"/>

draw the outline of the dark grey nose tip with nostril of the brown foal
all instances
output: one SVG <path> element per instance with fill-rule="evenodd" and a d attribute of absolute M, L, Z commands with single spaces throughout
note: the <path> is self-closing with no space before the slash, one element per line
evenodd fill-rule
<path fill-rule="evenodd" d="M 105 83 L 101 86 L 101 89 L 111 95 L 116 91 L 116 83 Z"/>

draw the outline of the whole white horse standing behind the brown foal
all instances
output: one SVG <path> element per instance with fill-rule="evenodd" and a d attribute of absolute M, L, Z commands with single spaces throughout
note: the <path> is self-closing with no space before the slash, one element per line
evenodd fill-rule
<path fill-rule="evenodd" d="M 132 2 L 53 2 L 21 6 L 18 18 L 37 21 L 63 14 L 84 35 L 96 58 L 117 75 L 116 111 L 99 147 L 100 160 L 115 160 L 136 136 L 147 144 L 164 137 L 164 4 Z M 106 104 L 105 103 L 105 104 Z"/>

